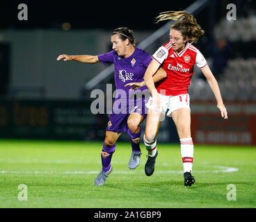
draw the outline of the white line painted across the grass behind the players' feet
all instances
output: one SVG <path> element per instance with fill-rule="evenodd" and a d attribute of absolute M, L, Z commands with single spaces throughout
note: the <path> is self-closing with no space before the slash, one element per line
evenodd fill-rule
<path fill-rule="evenodd" d="M 210 166 L 213 168 L 217 168 L 217 170 L 215 169 L 211 169 L 209 171 L 195 171 L 196 173 L 231 173 L 231 172 L 235 172 L 235 171 L 239 171 L 238 168 L 234 168 L 234 167 L 221 167 L 221 166 Z M 144 172 L 144 171 L 113 171 L 113 173 L 123 173 L 123 174 L 127 174 L 127 173 L 136 173 L 136 172 Z M 0 171 L 0 173 L 10 173 L 10 174 L 47 174 L 47 173 L 61 173 L 61 174 L 97 174 L 99 173 L 99 171 Z M 158 173 L 184 173 L 184 171 L 156 171 L 156 174 Z"/>

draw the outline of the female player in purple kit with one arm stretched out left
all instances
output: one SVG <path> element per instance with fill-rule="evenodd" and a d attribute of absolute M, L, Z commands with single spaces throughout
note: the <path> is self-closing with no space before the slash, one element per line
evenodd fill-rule
<path fill-rule="evenodd" d="M 77 60 L 79 62 L 95 64 L 102 62 L 107 65 L 114 63 L 116 97 L 113 104 L 113 113 L 106 127 L 106 135 L 102 148 L 102 171 L 95 179 L 95 185 L 104 185 L 106 178 L 111 173 L 111 158 L 115 152 L 115 142 L 122 132 L 127 132 L 131 137 L 131 158 L 129 169 L 136 169 L 140 164 L 141 140 L 140 123 L 145 119 L 145 103 L 150 96 L 143 76 L 150 64 L 151 56 L 135 46 L 134 33 L 127 27 L 116 28 L 111 35 L 113 44 L 109 53 L 98 56 L 58 56 L 57 60 Z M 154 82 L 166 77 L 166 71 L 159 69 L 153 76 Z M 137 89 L 138 90 L 132 90 Z M 144 95 L 144 96 L 142 96 Z"/>

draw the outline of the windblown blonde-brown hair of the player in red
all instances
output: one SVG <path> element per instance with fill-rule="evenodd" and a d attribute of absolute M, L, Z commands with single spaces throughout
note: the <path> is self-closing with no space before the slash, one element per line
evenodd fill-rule
<path fill-rule="evenodd" d="M 202 30 L 200 25 L 196 22 L 195 17 L 184 11 L 168 11 L 161 12 L 156 18 L 156 23 L 163 20 L 179 20 L 170 29 L 181 31 L 183 37 L 188 37 L 190 42 L 198 42 L 201 35 L 204 35 L 205 31 Z"/>

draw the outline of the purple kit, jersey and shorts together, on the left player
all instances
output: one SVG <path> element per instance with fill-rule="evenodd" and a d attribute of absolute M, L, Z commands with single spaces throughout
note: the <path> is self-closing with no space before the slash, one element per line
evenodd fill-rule
<path fill-rule="evenodd" d="M 125 85 L 127 83 L 142 82 L 152 58 L 147 52 L 135 47 L 134 53 L 128 58 L 118 56 L 113 50 L 99 55 L 98 59 L 104 65 L 114 63 L 115 67 L 115 88 L 117 89 L 117 94 L 113 104 L 113 113 L 106 130 L 127 132 L 129 114 L 138 112 L 143 118 L 146 117 L 145 103 L 150 93 L 146 86 L 129 91 L 131 86 L 125 87 Z"/>

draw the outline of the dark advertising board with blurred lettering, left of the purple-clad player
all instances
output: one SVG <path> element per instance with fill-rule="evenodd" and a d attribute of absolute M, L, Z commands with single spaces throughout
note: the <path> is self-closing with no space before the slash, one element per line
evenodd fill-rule
<path fill-rule="evenodd" d="M 102 139 L 107 117 L 90 113 L 90 101 L 1 101 L 0 137 Z"/>

